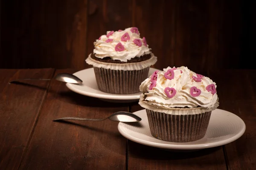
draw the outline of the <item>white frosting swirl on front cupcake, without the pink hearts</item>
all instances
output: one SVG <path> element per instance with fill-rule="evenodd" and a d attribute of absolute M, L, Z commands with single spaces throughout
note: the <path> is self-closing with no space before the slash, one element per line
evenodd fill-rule
<path fill-rule="evenodd" d="M 192 79 L 192 76 L 197 77 L 195 72 L 190 71 L 187 67 L 181 66 L 174 70 L 174 78 L 172 80 L 166 79 L 164 73 L 167 72 L 168 67 L 163 69 L 163 71 L 157 73 L 157 83 L 153 89 L 149 90 L 151 84 L 151 76 L 142 82 L 140 85 L 140 91 L 146 95 L 145 100 L 148 104 L 154 105 L 156 107 L 204 107 L 211 108 L 214 107 L 218 96 L 217 93 L 212 94 L 208 92 L 206 87 L 209 84 L 214 84 L 208 77 L 203 77 L 201 82 L 196 82 Z M 182 71 L 182 73 L 180 72 Z M 190 88 L 195 86 L 201 90 L 201 94 L 197 97 L 193 97 L 190 94 Z M 166 87 L 173 87 L 176 90 L 176 95 L 172 98 L 167 97 L 164 89 Z"/>

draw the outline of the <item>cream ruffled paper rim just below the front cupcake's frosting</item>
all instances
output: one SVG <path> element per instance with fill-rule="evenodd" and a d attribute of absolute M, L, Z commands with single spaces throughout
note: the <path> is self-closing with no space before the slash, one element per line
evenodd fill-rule
<path fill-rule="evenodd" d="M 211 108 L 204 108 L 204 107 L 195 107 L 195 108 L 164 108 L 159 107 L 157 105 L 150 105 L 147 103 L 147 101 L 144 100 L 144 95 L 140 95 L 140 101 L 139 104 L 141 107 L 145 109 L 152 110 L 154 112 L 163 112 L 169 115 L 195 115 L 200 114 L 204 112 L 210 112 L 212 110 L 215 110 L 219 106 L 218 99 L 216 103 Z"/>

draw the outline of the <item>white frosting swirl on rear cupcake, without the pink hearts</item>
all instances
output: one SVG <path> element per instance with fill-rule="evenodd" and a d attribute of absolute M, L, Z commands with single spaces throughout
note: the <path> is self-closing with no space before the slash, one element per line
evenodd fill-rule
<path fill-rule="evenodd" d="M 95 53 L 95 56 L 97 58 L 110 57 L 113 60 L 127 62 L 132 58 L 150 54 L 151 49 L 148 48 L 148 45 L 145 46 L 143 43 L 143 39 L 140 38 L 140 32 L 138 32 L 138 34 L 132 33 L 131 29 L 132 28 L 128 28 L 120 32 L 116 31 L 109 37 L 107 37 L 109 31 L 107 32 L 107 35 L 102 35 L 100 40 L 96 40 L 96 42 L 94 42 L 95 48 L 93 49 L 93 53 Z M 121 41 L 122 35 L 124 35 L 126 32 L 129 34 L 130 40 Z M 113 39 L 113 41 L 107 43 L 107 39 Z M 140 39 L 142 41 L 142 46 L 137 46 L 133 42 L 134 39 Z M 117 52 L 115 50 L 116 44 L 118 43 L 122 43 L 122 45 L 125 47 L 124 51 Z"/>

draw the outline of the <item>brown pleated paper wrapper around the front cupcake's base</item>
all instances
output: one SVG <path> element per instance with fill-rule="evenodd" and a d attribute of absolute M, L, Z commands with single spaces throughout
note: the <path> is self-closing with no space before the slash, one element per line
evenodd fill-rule
<path fill-rule="evenodd" d="M 146 109 L 151 135 L 163 141 L 189 142 L 204 137 L 211 112 L 170 115 Z"/>

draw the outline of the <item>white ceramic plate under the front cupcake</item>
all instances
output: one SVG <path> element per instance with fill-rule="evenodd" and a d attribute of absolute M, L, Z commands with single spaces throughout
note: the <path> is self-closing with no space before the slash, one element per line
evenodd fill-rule
<path fill-rule="evenodd" d="M 154 138 L 149 129 L 148 118 L 145 109 L 134 112 L 142 118 L 137 124 L 119 123 L 118 130 L 131 141 L 170 150 L 198 150 L 209 147 L 217 147 L 235 141 L 244 134 L 244 121 L 237 115 L 221 109 L 212 111 L 206 135 L 198 141 L 192 142 L 168 142 Z"/>

